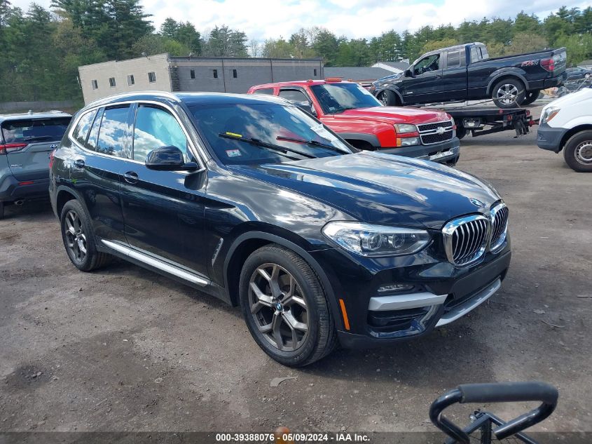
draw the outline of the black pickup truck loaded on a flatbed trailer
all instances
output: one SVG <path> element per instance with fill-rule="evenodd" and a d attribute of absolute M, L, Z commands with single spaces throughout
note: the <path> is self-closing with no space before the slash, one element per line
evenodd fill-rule
<path fill-rule="evenodd" d="M 374 82 L 371 92 L 387 106 L 491 98 L 515 108 L 562 84 L 565 65 L 565 48 L 489 58 L 483 43 L 467 43 L 422 55 L 403 75 Z"/>

